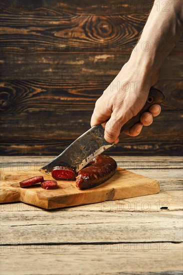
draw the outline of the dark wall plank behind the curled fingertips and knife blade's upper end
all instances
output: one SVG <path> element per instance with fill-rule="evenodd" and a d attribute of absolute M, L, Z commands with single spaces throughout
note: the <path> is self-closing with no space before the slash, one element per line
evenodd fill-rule
<path fill-rule="evenodd" d="M 19 117 L 19 121 L 15 114 Z M 74 115 L 71 111 L 2 112 L 1 129 L 3 130 L 3 134 L 5 134 L 4 141 L 10 141 L 11 134 L 13 133 L 14 141 L 16 142 L 23 140 L 33 142 L 37 140 L 40 143 L 54 143 L 56 141 L 57 144 L 67 145 L 68 142 L 73 141 L 90 128 L 91 114 L 92 112 L 90 111 L 80 111 Z M 178 124 L 178 128 L 176 123 Z M 163 111 L 161 115 L 154 118 L 153 124 L 143 127 L 139 136 L 130 137 L 121 133 L 121 141 L 133 140 L 134 142 L 139 141 L 142 144 L 144 141 L 149 141 L 151 133 L 153 133 L 154 139 L 158 139 L 158 141 L 168 141 L 170 134 L 170 142 L 172 140 L 181 141 L 181 123 L 182 117 L 178 111 Z M 21 135 L 19 131 L 21 131 Z M 32 133 L 31 135 L 29 135 L 30 132 Z M 180 133 L 180 135 L 177 136 L 177 133 Z M 2 138 L 3 134 L 0 134 Z M 62 139 L 58 140 L 60 136 Z M 113 145 L 111 149 L 117 148 L 118 145 Z"/>

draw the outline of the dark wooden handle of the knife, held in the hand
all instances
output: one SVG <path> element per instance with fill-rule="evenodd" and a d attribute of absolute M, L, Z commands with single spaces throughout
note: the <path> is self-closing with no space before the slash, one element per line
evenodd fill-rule
<path fill-rule="evenodd" d="M 148 98 L 143 106 L 143 108 L 137 113 L 137 115 L 133 116 L 131 119 L 129 119 L 121 128 L 121 131 L 128 130 L 130 127 L 132 127 L 135 123 L 140 121 L 140 115 L 148 111 L 149 107 L 153 104 L 160 104 L 164 100 L 164 94 L 156 89 L 151 87 L 149 90 Z"/>

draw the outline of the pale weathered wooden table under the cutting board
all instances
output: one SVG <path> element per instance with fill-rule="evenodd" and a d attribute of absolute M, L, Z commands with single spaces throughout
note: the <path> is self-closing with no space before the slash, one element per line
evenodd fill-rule
<path fill-rule="evenodd" d="M 182 158 L 114 158 L 160 193 L 56 210 L 1 204 L 1 275 L 182 274 Z M 1 167 L 50 159 L 3 156 Z"/>

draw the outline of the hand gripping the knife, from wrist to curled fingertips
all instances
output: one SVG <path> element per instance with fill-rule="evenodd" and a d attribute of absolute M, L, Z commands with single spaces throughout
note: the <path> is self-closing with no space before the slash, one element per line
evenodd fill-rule
<path fill-rule="evenodd" d="M 104 138 L 107 142 L 117 143 L 122 125 L 142 109 L 149 89 L 157 81 L 157 77 L 158 73 L 151 76 L 142 64 L 137 66 L 135 62 L 129 60 L 97 99 L 91 117 L 91 126 L 109 118 L 105 124 Z M 160 106 L 152 105 L 147 112 L 141 114 L 139 122 L 124 132 L 131 136 L 138 135 L 142 126 L 150 125 L 153 116 L 159 113 Z"/>

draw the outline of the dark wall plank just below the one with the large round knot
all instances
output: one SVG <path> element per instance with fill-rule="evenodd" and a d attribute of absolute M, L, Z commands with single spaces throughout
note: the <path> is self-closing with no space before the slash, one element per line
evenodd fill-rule
<path fill-rule="evenodd" d="M 0 57 L 1 79 L 89 80 L 111 81 L 129 59 L 126 53 L 63 52 L 39 54 L 3 54 Z M 167 69 L 168 67 L 168 69 Z M 181 80 L 182 61 L 179 55 L 169 55 L 161 67 L 159 79 Z"/>

